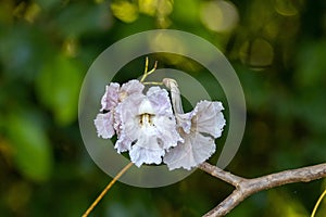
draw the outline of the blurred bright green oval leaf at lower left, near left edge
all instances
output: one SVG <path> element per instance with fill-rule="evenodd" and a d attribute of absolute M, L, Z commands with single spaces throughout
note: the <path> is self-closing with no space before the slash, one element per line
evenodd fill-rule
<path fill-rule="evenodd" d="M 37 113 L 16 112 L 9 116 L 9 137 L 17 169 L 34 181 L 45 181 L 52 170 L 52 153 Z"/>

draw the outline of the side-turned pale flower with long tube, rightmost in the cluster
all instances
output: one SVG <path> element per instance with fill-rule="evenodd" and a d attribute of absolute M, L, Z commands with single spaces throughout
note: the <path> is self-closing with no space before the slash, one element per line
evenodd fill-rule
<path fill-rule="evenodd" d="M 221 137 L 225 119 L 221 102 L 201 101 L 193 111 L 184 114 L 177 82 L 165 78 L 171 89 L 172 103 L 184 142 L 178 142 L 164 156 L 168 169 L 190 169 L 206 161 L 215 152 L 215 138 Z"/>

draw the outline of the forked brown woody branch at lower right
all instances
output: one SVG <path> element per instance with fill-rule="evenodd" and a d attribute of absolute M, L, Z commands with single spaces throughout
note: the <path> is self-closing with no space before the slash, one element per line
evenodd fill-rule
<path fill-rule="evenodd" d="M 233 175 L 216 166 L 210 165 L 209 163 L 201 164 L 199 168 L 218 179 L 222 179 L 223 181 L 226 181 L 227 183 L 233 184 L 236 188 L 229 196 L 227 196 L 212 210 L 206 213 L 204 217 L 225 216 L 241 201 L 259 191 L 287 183 L 308 182 L 326 177 L 326 163 L 298 169 L 285 170 L 253 179 L 246 179 Z"/>

